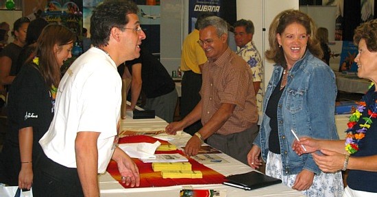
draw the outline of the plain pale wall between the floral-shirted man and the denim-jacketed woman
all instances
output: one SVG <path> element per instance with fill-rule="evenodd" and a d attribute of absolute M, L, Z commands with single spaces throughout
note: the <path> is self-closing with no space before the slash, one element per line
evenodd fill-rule
<path fill-rule="evenodd" d="M 237 0 L 237 20 L 250 19 L 254 23 L 255 33 L 253 42 L 256 44 L 260 55 L 263 57 L 265 68 L 265 88 L 272 75 L 273 63 L 267 62 L 264 57 L 265 51 L 269 48 L 268 30 L 273 18 L 282 10 L 298 10 L 298 0 Z M 265 28 L 265 31 L 263 31 Z"/>

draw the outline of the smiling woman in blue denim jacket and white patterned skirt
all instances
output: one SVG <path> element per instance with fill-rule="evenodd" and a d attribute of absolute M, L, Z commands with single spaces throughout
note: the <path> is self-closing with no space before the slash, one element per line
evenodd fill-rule
<path fill-rule="evenodd" d="M 265 94 L 260 132 L 247 160 L 252 168 L 259 168 L 261 154 L 267 175 L 305 196 L 341 196 L 341 172 L 321 172 L 312 155 L 298 156 L 291 148 L 293 132 L 339 139 L 335 74 L 318 58 L 322 51 L 315 30 L 314 21 L 298 10 L 284 10 L 273 18 L 265 56 L 276 64 Z"/>

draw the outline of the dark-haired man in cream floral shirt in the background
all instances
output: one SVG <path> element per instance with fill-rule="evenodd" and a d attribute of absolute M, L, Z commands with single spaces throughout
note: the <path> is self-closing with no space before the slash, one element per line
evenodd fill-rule
<path fill-rule="evenodd" d="M 249 64 L 253 73 L 253 84 L 256 93 L 258 112 L 263 104 L 263 62 L 253 43 L 254 24 L 250 20 L 241 19 L 234 23 L 234 40 L 239 49 L 236 51 Z"/>

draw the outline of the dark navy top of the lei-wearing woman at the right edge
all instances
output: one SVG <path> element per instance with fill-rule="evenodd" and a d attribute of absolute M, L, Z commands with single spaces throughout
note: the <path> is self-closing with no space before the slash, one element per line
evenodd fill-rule
<path fill-rule="evenodd" d="M 376 86 L 370 88 L 370 90 L 363 96 L 362 101 L 367 104 L 367 109 L 371 109 L 371 106 L 376 105 L 377 92 L 374 92 Z M 368 117 L 368 110 L 363 110 L 363 115 L 354 126 L 356 130 L 360 129 L 360 124 L 364 124 L 363 117 Z M 359 142 L 356 153 L 351 157 L 365 157 L 371 155 L 377 155 L 377 119 L 371 118 L 372 123 L 369 129 L 365 133 L 365 137 Z M 372 162 L 372 161 L 369 161 Z M 367 172 L 363 170 L 348 170 L 347 184 L 351 189 L 374 192 L 377 193 L 377 172 Z"/>

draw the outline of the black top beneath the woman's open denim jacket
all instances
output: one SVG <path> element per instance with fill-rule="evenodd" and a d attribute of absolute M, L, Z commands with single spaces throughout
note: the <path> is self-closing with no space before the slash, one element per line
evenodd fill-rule
<path fill-rule="evenodd" d="M 280 77 L 279 83 L 276 88 L 271 93 L 269 97 L 269 102 L 266 107 L 266 115 L 269 116 L 269 127 L 271 127 L 271 132 L 269 133 L 269 151 L 272 153 L 280 154 L 280 141 L 278 133 L 278 104 L 282 96 L 284 88 L 280 90 L 280 84 L 282 83 L 282 78 Z"/>

